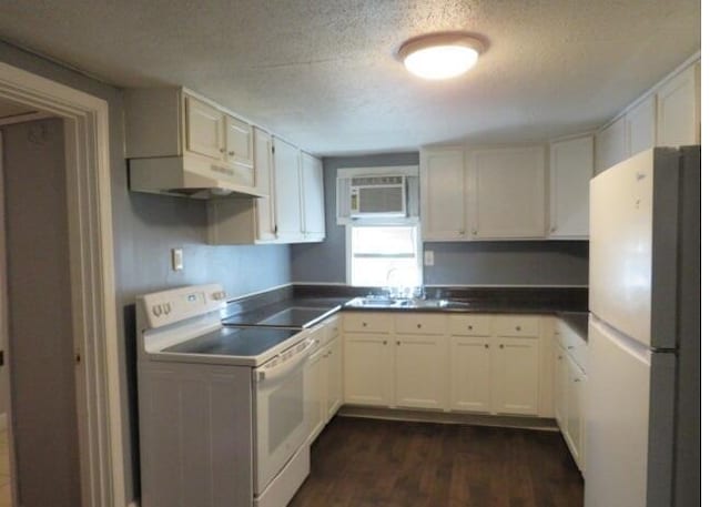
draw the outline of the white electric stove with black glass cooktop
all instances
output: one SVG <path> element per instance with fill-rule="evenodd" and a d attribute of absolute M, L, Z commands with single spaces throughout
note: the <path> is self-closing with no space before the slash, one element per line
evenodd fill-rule
<path fill-rule="evenodd" d="M 138 297 L 142 507 L 285 507 L 308 475 L 311 332 L 224 326 L 225 297 Z"/>

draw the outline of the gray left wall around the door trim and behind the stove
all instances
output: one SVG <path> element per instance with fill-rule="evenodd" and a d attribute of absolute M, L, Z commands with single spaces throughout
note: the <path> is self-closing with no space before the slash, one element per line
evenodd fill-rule
<path fill-rule="evenodd" d="M 124 337 L 120 386 L 124 430 L 132 444 L 126 453 L 126 494 L 133 498 L 136 480 L 134 425 L 134 321 L 136 294 L 196 283 L 221 282 L 230 296 L 270 288 L 291 281 L 288 246 L 209 246 L 204 204 L 180 197 L 129 192 L 123 159 L 123 105 L 121 90 L 90 79 L 10 44 L 0 42 L 0 61 L 99 97 L 109 103 L 112 210 L 119 336 Z M 185 270 L 170 271 L 170 249 L 184 249 Z M 43 393 L 48 402 L 52 392 Z M 75 477 L 79 480 L 79 477 Z"/>

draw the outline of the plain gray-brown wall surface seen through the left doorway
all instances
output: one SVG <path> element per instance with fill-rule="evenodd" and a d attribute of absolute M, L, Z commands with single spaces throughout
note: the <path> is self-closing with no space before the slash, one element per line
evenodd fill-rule
<path fill-rule="evenodd" d="M 63 125 L 52 119 L 1 131 L 19 497 L 27 507 L 74 507 L 81 489 Z"/>

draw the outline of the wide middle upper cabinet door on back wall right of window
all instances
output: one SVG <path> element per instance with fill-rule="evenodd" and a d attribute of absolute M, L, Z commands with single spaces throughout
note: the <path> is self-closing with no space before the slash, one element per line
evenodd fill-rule
<path fill-rule="evenodd" d="M 484 239 L 544 237 L 545 149 L 471 152 L 475 193 L 470 234 Z"/>

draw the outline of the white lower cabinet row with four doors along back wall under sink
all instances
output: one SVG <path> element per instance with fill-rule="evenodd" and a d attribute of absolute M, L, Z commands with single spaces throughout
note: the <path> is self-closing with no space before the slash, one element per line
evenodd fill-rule
<path fill-rule="evenodd" d="M 344 403 L 538 415 L 539 320 L 346 313 Z"/>

